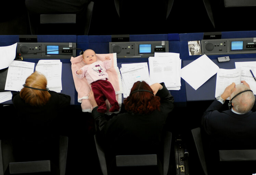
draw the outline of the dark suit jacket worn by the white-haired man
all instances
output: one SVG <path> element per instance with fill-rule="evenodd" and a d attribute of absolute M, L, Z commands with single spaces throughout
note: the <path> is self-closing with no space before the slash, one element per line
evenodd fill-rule
<path fill-rule="evenodd" d="M 202 118 L 206 135 L 219 149 L 256 148 L 256 105 L 245 114 L 229 110 L 219 111 L 222 104 L 217 100 L 207 108 Z"/>

